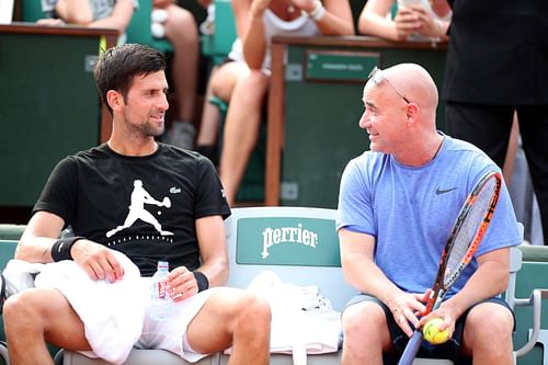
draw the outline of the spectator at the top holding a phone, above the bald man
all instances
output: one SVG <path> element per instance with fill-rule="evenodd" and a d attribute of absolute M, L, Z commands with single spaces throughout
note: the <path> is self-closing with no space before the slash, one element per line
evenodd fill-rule
<path fill-rule="evenodd" d="M 445 41 L 452 11 L 446 0 L 368 0 L 359 14 L 358 32 L 389 41 Z"/>

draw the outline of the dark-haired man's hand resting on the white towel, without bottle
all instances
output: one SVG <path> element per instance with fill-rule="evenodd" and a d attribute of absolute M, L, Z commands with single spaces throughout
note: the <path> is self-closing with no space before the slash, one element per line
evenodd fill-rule
<path fill-rule="evenodd" d="M 106 278 L 114 283 L 124 276 L 124 269 L 114 255 L 114 251 L 102 244 L 81 239 L 72 246 L 70 254 L 94 281 Z"/>

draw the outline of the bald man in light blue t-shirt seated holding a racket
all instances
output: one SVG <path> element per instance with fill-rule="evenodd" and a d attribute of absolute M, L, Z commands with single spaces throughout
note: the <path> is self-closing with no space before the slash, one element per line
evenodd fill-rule
<path fill-rule="evenodd" d="M 514 316 L 499 295 L 510 247 L 521 242 L 503 186 L 489 230 L 441 307 L 419 318 L 450 228 L 470 190 L 496 164 L 472 145 L 436 130 L 437 90 L 413 64 L 375 68 L 359 119 L 370 150 L 341 179 L 336 229 L 346 281 L 361 294 L 342 315 L 342 364 L 398 358 L 413 328 L 439 317 L 452 340 L 421 357 L 513 364 Z"/>

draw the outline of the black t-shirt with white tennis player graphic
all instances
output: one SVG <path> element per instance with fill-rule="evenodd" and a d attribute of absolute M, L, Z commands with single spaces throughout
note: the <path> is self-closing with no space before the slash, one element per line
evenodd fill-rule
<path fill-rule="evenodd" d="M 147 157 L 114 152 L 106 144 L 61 160 L 34 212 L 60 216 L 76 236 L 124 252 L 144 276 L 159 260 L 171 269 L 199 266 L 195 220 L 230 215 L 212 162 L 159 144 Z"/>

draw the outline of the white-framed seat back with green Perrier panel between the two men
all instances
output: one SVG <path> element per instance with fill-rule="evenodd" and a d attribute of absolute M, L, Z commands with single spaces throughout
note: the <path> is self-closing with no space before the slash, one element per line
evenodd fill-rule
<path fill-rule="evenodd" d="M 283 282 L 317 285 L 341 310 L 356 290 L 343 278 L 335 210 L 305 207 L 233 208 L 226 220 L 228 286 L 248 287 L 261 272 Z"/>

